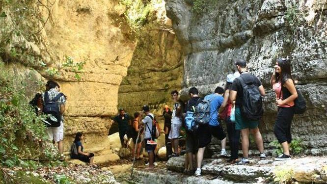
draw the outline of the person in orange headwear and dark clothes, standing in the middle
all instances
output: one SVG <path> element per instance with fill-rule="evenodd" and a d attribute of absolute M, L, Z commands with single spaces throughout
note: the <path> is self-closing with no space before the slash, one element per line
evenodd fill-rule
<path fill-rule="evenodd" d="M 169 132 L 171 129 L 172 111 L 168 105 L 164 105 L 163 116 L 164 116 L 164 144 L 166 146 L 166 159 L 168 159 L 168 156 L 172 154 L 171 142 L 168 139 Z"/>

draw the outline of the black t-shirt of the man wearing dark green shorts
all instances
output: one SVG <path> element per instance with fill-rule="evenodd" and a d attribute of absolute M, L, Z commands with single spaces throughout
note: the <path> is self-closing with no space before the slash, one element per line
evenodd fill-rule
<path fill-rule="evenodd" d="M 241 81 L 239 78 L 241 78 L 245 81 L 245 83 L 252 82 L 256 86 L 261 86 L 261 81 L 255 77 L 252 74 L 249 74 L 247 72 L 243 72 L 240 77 L 234 79 L 233 84 L 231 86 L 230 90 L 237 91 L 236 95 L 236 102 L 235 105 L 242 105 L 243 103 L 243 86 L 241 84 Z"/>

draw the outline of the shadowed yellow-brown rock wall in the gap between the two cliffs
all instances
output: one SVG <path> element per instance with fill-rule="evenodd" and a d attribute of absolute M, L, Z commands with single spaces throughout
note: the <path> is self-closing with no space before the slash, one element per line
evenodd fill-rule
<path fill-rule="evenodd" d="M 171 101 L 170 92 L 180 90 L 182 76 L 182 48 L 161 1 L 140 30 L 127 76 L 119 86 L 118 106 L 133 115 L 142 105 L 150 105 L 160 114 Z"/>

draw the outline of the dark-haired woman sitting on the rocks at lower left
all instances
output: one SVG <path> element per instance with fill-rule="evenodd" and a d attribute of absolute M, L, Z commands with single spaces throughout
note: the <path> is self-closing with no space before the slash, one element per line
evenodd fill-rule
<path fill-rule="evenodd" d="M 72 150 L 71 158 L 72 159 L 79 159 L 79 160 L 81 160 L 83 162 L 88 163 L 89 165 L 97 167 L 97 165 L 95 165 L 93 163 L 94 154 L 93 153 L 86 154 L 86 153 L 83 152 L 82 140 L 84 140 L 83 133 L 82 132 L 77 132 L 76 135 L 75 135 L 75 140 L 74 140 L 74 144 L 75 144 L 76 149 L 77 149 L 77 154 L 74 153 L 74 150 Z"/>

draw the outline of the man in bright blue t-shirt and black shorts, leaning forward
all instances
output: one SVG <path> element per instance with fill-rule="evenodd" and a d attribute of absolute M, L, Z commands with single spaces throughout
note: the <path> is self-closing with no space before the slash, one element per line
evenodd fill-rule
<path fill-rule="evenodd" d="M 222 127 L 219 124 L 218 121 L 218 109 L 220 105 L 222 104 L 224 98 L 222 97 L 224 93 L 224 90 L 221 87 L 217 87 L 215 89 L 214 94 L 207 95 L 204 100 L 210 102 L 210 120 L 209 120 L 209 125 L 202 125 L 202 129 L 205 131 L 199 131 L 201 127 L 199 127 L 198 133 L 200 139 L 206 139 L 205 141 L 200 141 L 199 142 L 206 142 L 207 144 L 203 144 L 202 146 L 199 143 L 199 150 L 197 152 L 197 160 L 196 160 L 196 171 L 194 173 L 194 176 L 201 176 L 201 164 L 203 160 L 203 154 L 206 149 L 206 145 L 208 145 L 211 142 L 211 135 L 214 135 L 217 137 L 220 142 L 221 142 L 221 156 L 227 157 L 226 153 L 226 134 L 224 133 Z M 201 129 L 201 130 L 202 130 Z M 208 136 L 207 132 L 210 132 Z"/>

